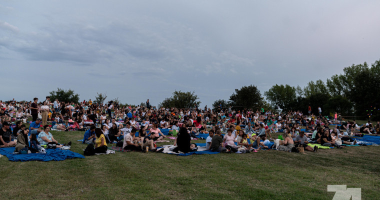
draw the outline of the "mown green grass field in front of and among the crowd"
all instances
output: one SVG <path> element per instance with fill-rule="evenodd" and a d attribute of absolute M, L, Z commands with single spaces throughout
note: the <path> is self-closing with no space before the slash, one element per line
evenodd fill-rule
<path fill-rule="evenodd" d="M 76 141 L 83 132 L 51 133 L 83 153 L 86 145 Z M 379 147 L 355 146 L 307 154 L 116 152 L 49 162 L 3 156 L 0 199 L 332 199 L 327 184 L 360 187 L 362 199 L 380 199 L 379 155 Z"/>

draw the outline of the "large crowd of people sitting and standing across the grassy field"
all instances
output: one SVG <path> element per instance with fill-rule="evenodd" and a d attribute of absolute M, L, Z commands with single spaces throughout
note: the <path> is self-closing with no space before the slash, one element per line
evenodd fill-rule
<path fill-rule="evenodd" d="M 44 152 L 45 147 L 62 147 L 49 132 L 53 130 L 82 130 L 83 143 L 94 144 L 96 152 L 105 152 L 107 144 L 115 143 L 124 149 L 143 151 L 148 148 L 156 151 L 156 142 L 168 141 L 161 130 L 169 129 L 176 135 L 174 151 L 189 152 L 196 150 L 191 138 L 200 133 L 208 134 L 206 149 L 225 152 L 235 149 L 246 152 L 268 148 L 273 141 L 272 133 L 281 132 L 282 140 L 276 143 L 277 150 L 290 151 L 295 146 L 316 151 L 307 145 L 309 142 L 323 146 L 340 148 L 342 144 L 355 144 L 351 136 L 355 132 L 374 134 L 379 132 L 379 122 L 359 125 L 355 120 L 341 119 L 335 112 L 327 118 L 314 115 L 310 106 L 304 115 L 300 111 L 274 113 L 271 110 L 234 109 L 221 107 L 204 109 L 194 105 L 192 108 L 156 108 L 146 106 L 119 106 L 117 102 L 104 104 L 89 99 L 79 103 L 64 102 L 58 99 L 38 101 L 0 101 L 0 145 L 16 145 L 16 150 Z M 29 122 L 29 128 L 25 124 Z M 15 125 L 13 131 L 10 125 Z M 50 125 L 51 124 L 51 125 Z M 334 124 L 333 128 L 330 128 Z M 42 125 L 42 128 L 41 128 Z M 304 126 L 301 131 L 300 126 Z M 135 136 L 138 131 L 138 136 Z M 149 132 L 148 132 L 149 131 Z M 359 134 L 360 134 L 359 133 Z M 224 136 L 222 136 L 224 134 Z M 14 141 L 17 142 L 14 142 Z"/>

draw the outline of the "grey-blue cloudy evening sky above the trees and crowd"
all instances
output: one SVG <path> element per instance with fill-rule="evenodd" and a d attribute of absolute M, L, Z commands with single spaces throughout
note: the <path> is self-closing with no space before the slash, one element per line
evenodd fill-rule
<path fill-rule="evenodd" d="M 0 99 L 201 106 L 254 84 L 305 86 L 380 59 L 379 0 L 0 0 Z"/>

